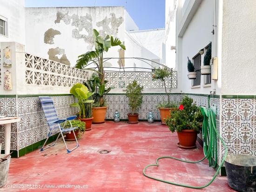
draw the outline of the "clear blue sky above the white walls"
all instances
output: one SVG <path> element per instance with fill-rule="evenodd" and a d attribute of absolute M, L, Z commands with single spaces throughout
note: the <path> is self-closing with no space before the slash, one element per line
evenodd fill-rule
<path fill-rule="evenodd" d="M 165 0 L 25 0 L 25 6 L 124 6 L 140 30 L 164 28 L 165 24 Z"/>

